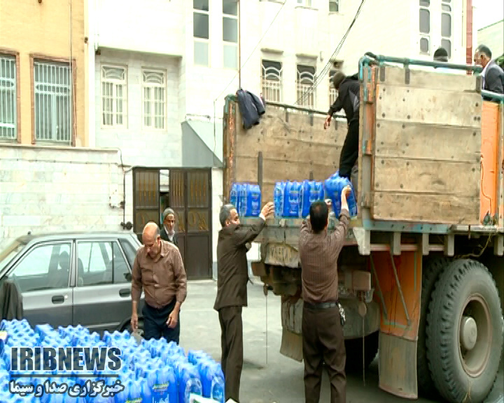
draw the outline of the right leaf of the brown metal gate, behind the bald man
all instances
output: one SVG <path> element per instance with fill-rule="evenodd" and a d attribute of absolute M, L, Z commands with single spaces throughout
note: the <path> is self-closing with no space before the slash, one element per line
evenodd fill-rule
<path fill-rule="evenodd" d="M 211 169 L 170 169 L 169 184 L 187 276 L 211 278 Z"/>

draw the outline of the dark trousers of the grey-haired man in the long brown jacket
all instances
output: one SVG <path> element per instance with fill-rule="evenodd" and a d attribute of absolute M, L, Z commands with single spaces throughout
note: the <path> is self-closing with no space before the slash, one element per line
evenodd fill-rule
<path fill-rule="evenodd" d="M 241 306 L 227 306 L 218 311 L 221 323 L 221 367 L 225 379 L 225 400 L 239 402 L 239 386 L 243 367 L 243 323 Z"/>

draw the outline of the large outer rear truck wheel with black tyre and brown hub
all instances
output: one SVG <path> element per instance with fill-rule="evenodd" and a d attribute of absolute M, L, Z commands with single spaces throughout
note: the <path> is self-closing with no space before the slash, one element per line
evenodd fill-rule
<path fill-rule="evenodd" d="M 498 290 L 482 263 L 454 260 L 440 275 L 426 345 L 430 374 L 444 399 L 484 401 L 496 380 L 503 333 Z"/>

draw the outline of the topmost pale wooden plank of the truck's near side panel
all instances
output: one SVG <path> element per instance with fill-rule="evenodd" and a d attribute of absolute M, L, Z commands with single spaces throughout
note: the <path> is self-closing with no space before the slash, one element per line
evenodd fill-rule
<path fill-rule="evenodd" d="M 385 80 L 380 80 L 378 74 L 379 85 L 406 85 L 405 84 L 405 69 L 402 66 L 386 66 Z M 433 88 L 435 90 L 445 91 L 475 91 L 477 80 L 475 76 L 467 76 L 466 74 L 456 73 L 441 73 L 440 71 L 416 70 L 409 69 L 409 87 L 418 88 Z"/>

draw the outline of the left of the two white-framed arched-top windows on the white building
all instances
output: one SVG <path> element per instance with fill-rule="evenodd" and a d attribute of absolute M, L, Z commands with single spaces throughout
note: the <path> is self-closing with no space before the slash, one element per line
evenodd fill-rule
<path fill-rule="evenodd" d="M 126 68 L 102 66 L 102 125 L 126 125 L 126 97 Z"/>

